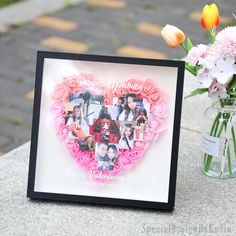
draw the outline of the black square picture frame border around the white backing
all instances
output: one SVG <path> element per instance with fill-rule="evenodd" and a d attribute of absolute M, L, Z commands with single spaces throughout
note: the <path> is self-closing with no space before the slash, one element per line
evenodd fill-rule
<path fill-rule="evenodd" d="M 173 67 L 176 68 L 177 77 L 174 80 L 176 80 L 175 93 L 177 94 L 177 96 L 175 96 L 173 135 L 172 135 L 172 140 L 170 140 L 170 142 L 172 142 L 172 148 L 171 148 L 171 164 L 170 164 L 169 188 L 168 188 L 169 191 L 168 191 L 167 202 L 131 200 L 131 199 L 98 197 L 98 196 L 77 195 L 77 194 L 75 195 L 71 193 L 64 194 L 55 192 L 35 191 L 35 178 L 36 178 L 36 167 L 38 158 L 37 156 L 38 134 L 39 134 L 39 123 L 41 115 L 40 107 L 41 107 L 41 94 L 42 94 L 42 83 L 43 83 L 42 78 L 43 78 L 45 59 L 92 61 L 92 62 L 102 62 L 102 63 L 105 62 L 105 63 L 115 63 L 115 64 L 119 63 L 124 65 L 140 65 L 140 66 L 150 66 L 150 67 L 157 66 L 157 67 L 166 67 L 167 70 L 168 68 L 173 68 Z M 31 199 L 59 200 L 59 201 L 79 202 L 79 203 L 141 207 L 141 208 L 172 211 L 175 205 L 176 174 L 177 174 L 181 107 L 182 107 L 183 81 L 184 81 L 183 79 L 184 79 L 183 61 L 38 51 L 27 197 Z M 50 156 L 51 154 L 49 153 L 48 155 Z"/>

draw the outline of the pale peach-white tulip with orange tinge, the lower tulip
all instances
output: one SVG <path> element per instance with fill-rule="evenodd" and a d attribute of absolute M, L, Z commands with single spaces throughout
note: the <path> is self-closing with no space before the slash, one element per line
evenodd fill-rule
<path fill-rule="evenodd" d="M 166 25 L 161 36 L 171 48 L 177 48 L 185 40 L 184 32 L 173 25 Z"/>

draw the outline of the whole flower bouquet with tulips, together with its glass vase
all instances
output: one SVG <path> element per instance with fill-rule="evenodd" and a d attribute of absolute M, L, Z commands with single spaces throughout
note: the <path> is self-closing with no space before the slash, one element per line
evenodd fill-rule
<path fill-rule="evenodd" d="M 201 25 L 208 30 L 208 45 L 193 46 L 191 39 L 172 25 L 166 25 L 161 35 L 169 47 L 184 49 L 185 69 L 200 85 L 185 98 L 208 93 L 212 99 L 204 118 L 202 171 L 230 178 L 236 176 L 236 26 L 217 33 L 219 18 L 216 4 L 205 5 Z"/>

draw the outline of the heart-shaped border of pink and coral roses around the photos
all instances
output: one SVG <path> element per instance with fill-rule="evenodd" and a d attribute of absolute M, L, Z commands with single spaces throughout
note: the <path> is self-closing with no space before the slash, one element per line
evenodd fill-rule
<path fill-rule="evenodd" d="M 51 94 L 54 102 L 51 105 L 50 110 L 54 118 L 56 134 L 67 147 L 70 155 L 81 169 L 88 173 L 93 173 L 91 175 L 93 180 L 97 182 L 107 182 L 113 179 L 114 176 L 119 175 L 123 170 L 133 168 L 135 163 L 143 157 L 143 154 L 150 144 L 156 141 L 159 138 L 160 133 L 165 130 L 164 119 L 166 117 L 166 106 L 164 103 L 164 93 L 157 88 L 150 79 L 145 81 L 138 79 L 127 81 L 142 84 L 141 91 L 117 89 L 113 93 L 111 89 L 106 89 L 105 91 L 104 89 L 101 91 L 99 91 L 99 89 L 90 89 L 91 93 L 104 93 L 104 103 L 106 105 L 112 103 L 112 98 L 114 96 L 120 96 L 124 92 L 135 93 L 137 96 L 146 99 L 151 105 L 150 113 L 152 121 L 150 122 L 147 131 L 144 133 L 143 141 L 135 141 L 132 150 L 119 150 L 118 163 L 115 163 L 113 170 L 98 170 L 97 161 L 94 158 L 95 152 L 80 150 L 77 142 L 67 139 L 69 130 L 65 125 L 66 112 L 64 109 L 64 102 L 69 101 L 69 93 L 79 93 L 80 90 L 84 88 L 80 86 L 81 79 L 96 81 L 95 77 L 91 74 L 65 77 L 62 82 L 56 84 L 54 91 Z"/>

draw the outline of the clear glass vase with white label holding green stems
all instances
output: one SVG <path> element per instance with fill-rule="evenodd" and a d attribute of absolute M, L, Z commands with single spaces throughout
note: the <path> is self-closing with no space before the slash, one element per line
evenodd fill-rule
<path fill-rule="evenodd" d="M 202 172 L 215 178 L 236 177 L 236 99 L 212 103 L 202 127 Z"/>

